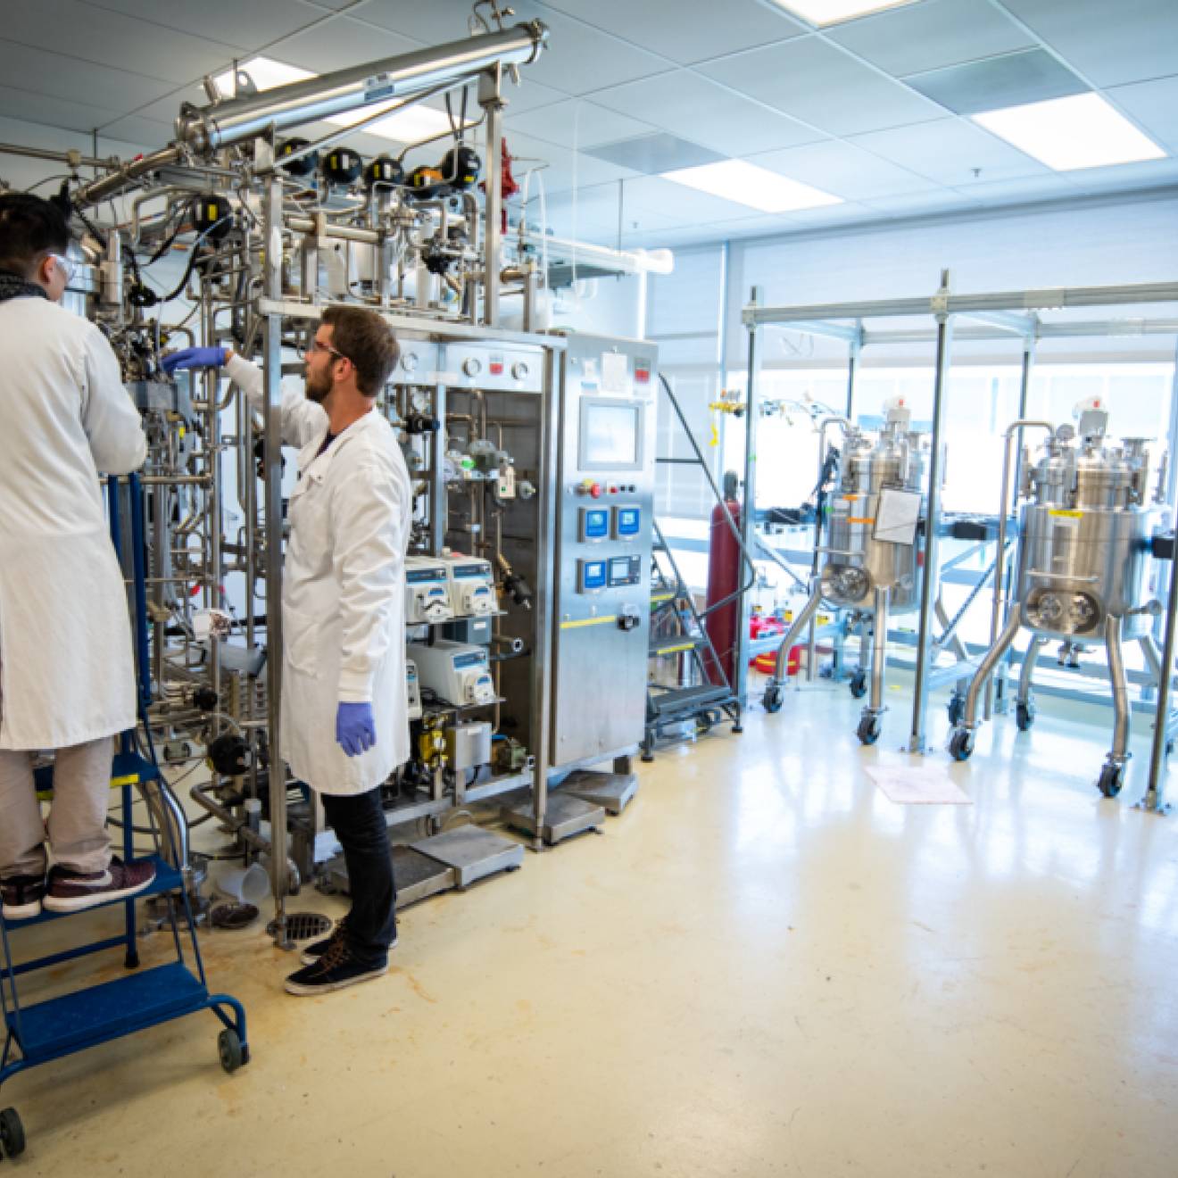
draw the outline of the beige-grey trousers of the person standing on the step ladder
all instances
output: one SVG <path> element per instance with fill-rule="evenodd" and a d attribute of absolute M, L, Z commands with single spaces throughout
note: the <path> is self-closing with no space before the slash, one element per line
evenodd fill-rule
<path fill-rule="evenodd" d="M 81 874 L 105 872 L 111 862 L 106 810 L 113 757 L 112 736 L 57 752 L 49 846 L 57 863 Z M 0 749 L 0 878 L 44 875 L 45 839 L 33 755 Z"/>

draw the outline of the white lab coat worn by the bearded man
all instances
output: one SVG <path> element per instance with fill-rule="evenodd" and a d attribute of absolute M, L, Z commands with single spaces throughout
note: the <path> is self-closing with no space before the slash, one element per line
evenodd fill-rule
<path fill-rule="evenodd" d="M 226 370 L 263 408 L 262 370 Z M 322 454 L 327 415 L 302 392 L 283 397 L 283 442 L 299 448 L 283 571 L 279 744 L 291 772 L 324 794 L 359 794 L 409 760 L 405 549 L 409 471 L 376 410 Z M 336 742 L 340 702 L 372 703 L 376 744 L 348 756 Z"/>

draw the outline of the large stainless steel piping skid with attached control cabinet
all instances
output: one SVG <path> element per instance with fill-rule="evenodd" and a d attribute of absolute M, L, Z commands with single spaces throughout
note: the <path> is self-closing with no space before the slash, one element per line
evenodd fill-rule
<path fill-rule="evenodd" d="M 146 541 L 124 552 L 146 567 L 144 736 L 177 767 L 207 760 L 192 801 L 234 853 L 269 861 L 282 942 L 287 896 L 338 882 L 335 836 L 290 780 L 279 730 L 293 485 L 283 380 L 303 371 L 325 307 L 369 307 L 401 344 L 376 411 L 413 492 L 411 756 L 382 787 L 404 899 L 518 865 L 517 841 L 478 826 L 438 834 L 475 803 L 497 818 L 522 796 L 512 813 L 537 841 L 600 822 L 600 805 L 554 818 L 549 786 L 571 799 L 573 770 L 628 768 L 617 762 L 642 739 L 655 351 L 535 329 L 545 253 L 589 257 L 597 272 L 638 273 L 647 259 L 504 233 L 508 82 L 548 35 L 538 21 L 503 27 L 505 15 L 478 0 L 469 38 L 262 93 L 243 71 L 232 94 L 210 78 L 209 104 L 181 110 L 173 143 L 130 163 L 0 145 L 71 170 L 67 302 L 110 338 L 144 417 Z M 390 102 L 451 92 L 469 92 L 477 121 L 377 159 L 344 144 Z M 360 123 L 313 143 L 283 138 L 351 111 Z M 216 369 L 170 378 L 164 356 L 190 344 L 258 360 L 260 409 Z M 135 487 L 120 494 L 133 510 Z M 633 792 L 630 777 L 601 776 Z M 180 858 L 194 888 L 199 863 Z"/>

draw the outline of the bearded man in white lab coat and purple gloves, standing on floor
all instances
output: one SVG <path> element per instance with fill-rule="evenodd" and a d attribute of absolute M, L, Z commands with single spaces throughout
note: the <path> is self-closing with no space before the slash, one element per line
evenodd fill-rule
<path fill-rule="evenodd" d="M 304 393 L 284 396 L 283 441 L 299 446 L 283 577 L 282 755 L 323 799 L 343 847 L 352 906 L 303 952 L 292 994 L 322 994 L 389 968 L 396 887 L 380 786 L 409 760 L 405 550 L 412 494 L 377 395 L 397 363 L 385 322 L 332 306 L 306 349 Z M 223 348 L 188 348 L 164 368 L 225 365 L 257 409 L 262 370 Z"/>

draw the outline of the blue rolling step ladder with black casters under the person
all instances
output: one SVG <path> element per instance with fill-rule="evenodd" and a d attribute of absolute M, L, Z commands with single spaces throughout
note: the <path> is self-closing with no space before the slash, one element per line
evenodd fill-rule
<path fill-rule="evenodd" d="M 133 560 L 133 585 L 135 596 L 135 644 L 139 655 L 139 703 L 141 716 L 146 715 L 147 659 L 146 659 L 146 603 L 143 560 L 143 501 L 138 481 L 130 479 L 130 514 Z M 117 549 L 121 549 L 119 535 L 119 510 L 114 481 L 110 484 L 111 495 L 111 530 Z M 246 1039 L 245 1011 L 241 1004 L 229 994 L 212 994 L 205 979 L 205 967 L 200 959 L 200 946 L 197 942 L 196 921 L 185 880 L 183 866 L 187 862 L 186 839 L 184 838 L 183 810 L 167 782 L 159 772 L 154 749 L 151 743 L 150 729 L 143 726 L 146 734 L 146 749 L 135 747 L 135 735 L 125 734 L 120 739 L 120 752 L 115 754 L 111 787 L 121 790 L 123 798 L 123 849 L 124 860 L 134 858 L 132 806 L 134 793 L 148 796 L 154 809 L 171 820 L 160 825 L 152 819 L 157 853 L 150 856 L 155 867 L 155 879 L 144 892 L 130 900 L 114 900 L 112 905 L 121 904 L 125 909 L 125 928 L 121 935 L 106 940 L 90 941 L 73 948 L 64 949 L 32 961 L 15 964 L 12 957 L 12 934 L 31 925 L 41 925 L 51 920 L 74 920 L 84 918 L 85 913 L 68 916 L 44 912 L 31 920 L 5 921 L 0 915 L 0 941 L 4 958 L 0 964 L 0 1005 L 5 1020 L 4 1054 L 0 1057 L 0 1085 L 18 1072 L 37 1067 L 65 1055 L 97 1047 L 123 1035 L 144 1031 L 147 1027 L 168 1023 L 172 1019 L 194 1014 L 197 1011 L 212 1011 L 224 1024 L 218 1039 L 218 1053 L 221 1066 L 227 1072 L 234 1072 L 250 1060 L 250 1046 Z M 41 798 L 51 794 L 47 780 L 38 773 L 38 793 Z M 148 812 L 153 807 L 148 806 Z M 168 922 L 176 959 L 166 965 L 150 969 L 139 969 L 139 952 L 135 935 L 135 904 L 153 895 L 168 895 Z M 99 907 L 110 907 L 102 905 Z M 92 909 L 86 909 L 90 912 Z M 185 945 L 191 942 L 191 964 Z M 18 979 L 38 969 L 46 969 L 72 961 L 91 953 L 121 948 L 124 965 L 128 971 L 126 977 L 101 985 L 78 990 L 60 998 L 40 1001 L 35 1005 L 22 1005 Z M 25 1131 L 20 1117 L 14 1108 L 0 1110 L 0 1156 L 16 1157 L 25 1149 Z"/>

